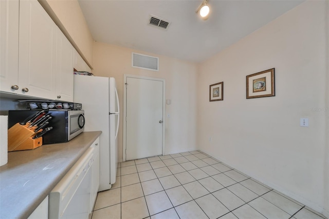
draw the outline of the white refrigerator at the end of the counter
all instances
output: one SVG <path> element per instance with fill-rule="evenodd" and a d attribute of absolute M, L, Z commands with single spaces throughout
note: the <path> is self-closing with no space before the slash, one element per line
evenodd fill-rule
<path fill-rule="evenodd" d="M 116 181 L 118 162 L 119 98 L 114 78 L 74 75 L 75 103 L 82 103 L 84 131 L 100 135 L 100 185 L 111 189 Z"/>

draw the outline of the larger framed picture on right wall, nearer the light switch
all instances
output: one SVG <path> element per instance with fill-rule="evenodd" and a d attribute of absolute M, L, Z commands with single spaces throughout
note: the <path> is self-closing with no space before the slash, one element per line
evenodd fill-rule
<path fill-rule="evenodd" d="M 275 93 L 275 68 L 246 76 L 247 99 L 273 97 Z"/>

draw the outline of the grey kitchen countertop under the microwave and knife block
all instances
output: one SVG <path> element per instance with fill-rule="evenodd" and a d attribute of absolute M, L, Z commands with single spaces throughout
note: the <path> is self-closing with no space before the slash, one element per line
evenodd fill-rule
<path fill-rule="evenodd" d="M 29 217 L 101 133 L 9 152 L 8 163 L 0 167 L 0 218 Z"/>

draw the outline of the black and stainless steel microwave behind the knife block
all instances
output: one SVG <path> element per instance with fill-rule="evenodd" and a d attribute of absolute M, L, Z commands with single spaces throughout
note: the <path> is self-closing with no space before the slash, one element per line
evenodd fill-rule
<path fill-rule="evenodd" d="M 8 112 L 8 129 L 16 123 L 40 112 L 40 110 L 23 110 Z M 71 140 L 84 131 L 84 111 L 49 110 L 45 111 L 52 119 L 47 126 L 52 130 L 43 135 L 43 144 L 62 143 Z"/>

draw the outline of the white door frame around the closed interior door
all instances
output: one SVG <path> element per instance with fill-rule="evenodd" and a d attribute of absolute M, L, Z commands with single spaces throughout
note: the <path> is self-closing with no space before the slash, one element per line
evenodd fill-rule
<path fill-rule="evenodd" d="M 165 139 L 166 139 L 166 80 L 162 78 L 152 78 L 144 77 L 137 75 L 123 75 L 123 141 L 122 141 L 122 161 L 126 161 L 126 103 L 127 103 L 127 94 L 126 94 L 126 83 L 127 78 L 136 78 L 136 79 L 146 79 L 153 81 L 162 81 L 162 155 L 165 154 Z"/>

